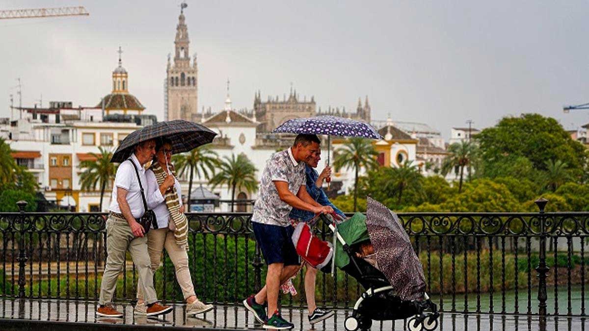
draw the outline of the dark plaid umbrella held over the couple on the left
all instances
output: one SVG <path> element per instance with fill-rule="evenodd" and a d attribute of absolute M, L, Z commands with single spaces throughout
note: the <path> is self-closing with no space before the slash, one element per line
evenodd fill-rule
<path fill-rule="evenodd" d="M 182 153 L 209 144 L 217 135 L 209 128 L 184 120 L 158 122 L 133 131 L 118 145 L 111 162 L 123 162 L 133 153 L 133 147 L 142 141 L 166 137 L 172 143 L 172 153 Z"/>

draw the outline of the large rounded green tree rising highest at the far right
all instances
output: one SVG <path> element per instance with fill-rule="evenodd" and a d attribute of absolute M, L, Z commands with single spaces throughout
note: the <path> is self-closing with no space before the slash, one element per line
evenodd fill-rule
<path fill-rule="evenodd" d="M 508 160 L 525 157 L 534 168 L 547 170 L 548 160 L 568 165 L 575 178 L 581 178 L 587 163 L 587 151 L 571 139 L 557 120 L 538 114 L 504 117 L 495 127 L 486 128 L 474 137 L 479 143 L 486 171 Z M 519 176 L 518 176 L 519 177 Z"/>

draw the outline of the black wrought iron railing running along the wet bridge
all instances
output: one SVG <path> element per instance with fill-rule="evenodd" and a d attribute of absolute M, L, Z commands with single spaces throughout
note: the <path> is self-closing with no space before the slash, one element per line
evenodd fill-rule
<path fill-rule="evenodd" d="M 422 262 L 427 292 L 443 312 L 587 316 L 589 213 L 402 213 Z M 19 206 L 24 210 L 24 205 Z M 263 285 L 265 266 L 247 213 L 191 213 L 188 252 L 197 295 L 239 304 Z M 97 300 L 107 249 L 104 213 L 0 213 L 0 297 Z M 326 224 L 317 235 L 331 240 Z M 297 296 L 305 307 L 303 272 Z M 164 254 L 155 273 L 158 297 L 181 302 Z M 135 300 L 130 258 L 117 298 Z M 362 289 L 339 270 L 319 273 L 317 303 L 352 307 Z"/>

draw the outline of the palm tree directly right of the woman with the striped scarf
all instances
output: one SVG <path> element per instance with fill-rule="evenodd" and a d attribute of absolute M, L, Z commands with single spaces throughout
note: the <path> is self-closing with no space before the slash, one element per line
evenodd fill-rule
<path fill-rule="evenodd" d="M 187 211 L 190 211 L 190 194 L 192 193 L 192 181 L 194 173 L 198 178 L 209 180 L 210 174 L 214 174 L 215 167 L 219 164 L 219 155 L 208 147 L 197 147 L 188 153 L 176 154 L 172 157 L 172 163 L 178 170 L 178 175 L 189 174 Z"/>

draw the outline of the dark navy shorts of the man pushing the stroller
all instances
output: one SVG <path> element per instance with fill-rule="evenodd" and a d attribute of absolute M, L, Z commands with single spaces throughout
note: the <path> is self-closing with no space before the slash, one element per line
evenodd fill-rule
<path fill-rule="evenodd" d="M 252 222 L 254 236 L 260 245 L 266 264 L 283 263 L 284 266 L 300 264 L 299 254 L 294 249 L 292 226 L 277 226 Z"/>

